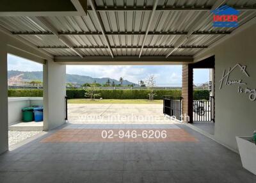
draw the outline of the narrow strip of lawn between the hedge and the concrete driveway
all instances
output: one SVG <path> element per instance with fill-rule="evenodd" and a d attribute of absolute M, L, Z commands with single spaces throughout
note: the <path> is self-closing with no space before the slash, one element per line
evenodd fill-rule
<path fill-rule="evenodd" d="M 163 100 L 145 100 L 145 99 L 68 99 L 68 104 L 163 104 Z"/>

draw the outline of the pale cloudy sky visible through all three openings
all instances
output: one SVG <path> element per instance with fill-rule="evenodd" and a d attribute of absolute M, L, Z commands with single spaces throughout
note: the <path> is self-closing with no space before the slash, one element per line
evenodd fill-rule
<path fill-rule="evenodd" d="M 29 61 L 24 58 L 8 54 L 8 70 L 20 71 L 42 71 L 40 63 Z M 157 86 L 181 86 L 182 66 L 181 65 L 67 65 L 67 74 L 78 74 L 90 77 L 110 77 L 119 80 L 120 77 L 138 83 L 140 80 L 147 80 L 147 77 L 154 75 Z M 195 69 L 194 83 L 200 84 L 209 81 L 209 69 Z"/>

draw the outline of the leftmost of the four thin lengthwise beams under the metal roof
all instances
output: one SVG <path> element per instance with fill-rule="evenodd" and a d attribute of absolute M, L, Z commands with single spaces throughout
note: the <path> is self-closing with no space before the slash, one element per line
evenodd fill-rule
<path fill-rule="evenodd" d="M 56 28 L 54 28 L 54 26 L 52 26 L 50 24 L 50 22 L 48 22 L 44 17 L 36 17 L 38 20 L 40 20 L 40 22 L 42 22 L 42 24 L 44 24 L 45 27 L 47 27 L 49 29 L 49 31 L 51 31 L 54 35 L 56 35 L 58 37 L 58 39 L 64 44 L 66 45 L 69 49 L 71 49 L 73 52 L 76 52 L 77 55 L 79 55 L 81 58 L 83 58 L 83 56 L 77 52 L 72 44 L 70 43 L 70 41 L 67 39 L 67 37 L 59 35 L 58 31 Z"/>

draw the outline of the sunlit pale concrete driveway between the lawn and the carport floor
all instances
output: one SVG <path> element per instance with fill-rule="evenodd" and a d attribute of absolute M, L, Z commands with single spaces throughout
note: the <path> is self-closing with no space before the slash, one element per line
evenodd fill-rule
<path fill-rule="evenodd" d="M 68 104 L 70 123 L 177 123 L 163 104 Z"/>

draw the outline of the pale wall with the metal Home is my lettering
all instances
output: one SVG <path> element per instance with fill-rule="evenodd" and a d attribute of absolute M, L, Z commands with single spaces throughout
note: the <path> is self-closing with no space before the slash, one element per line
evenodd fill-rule
<path fill-rule="evenodd" d="M 242 79 L 246 86 L 256 88 L 256 24 L 244 29 L 224 42 L 199 54 L 195 60 L 215 55 L 215 110 L 216 123 L 214 138 L 237 150 L 236 136 L 251 136 L 256 130 L 256 101 L 250 101 L 248 94 L 238 93 L 237 84 L 224 86 L 220 90 L 223 70 L 237 63 L 246 65 L 250 77 L 246 77 L 239 68 L 230 74 L 230 80 Z"/>

